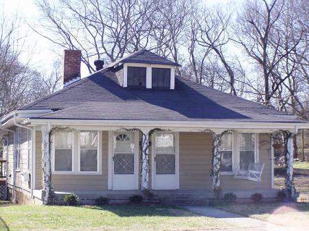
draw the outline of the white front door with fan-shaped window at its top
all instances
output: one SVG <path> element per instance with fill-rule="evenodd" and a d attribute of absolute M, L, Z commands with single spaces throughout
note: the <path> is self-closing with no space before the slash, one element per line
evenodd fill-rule
<path fill-rule="evenodd" d="M 113 134 L 112 189 L 138 189 L 136 136 L 135 132 L 114 132 Z"/>

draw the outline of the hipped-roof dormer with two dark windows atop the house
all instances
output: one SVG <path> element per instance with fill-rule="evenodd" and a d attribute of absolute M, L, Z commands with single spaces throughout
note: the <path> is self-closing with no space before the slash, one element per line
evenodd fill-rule
<path fill-rule="evenodd" d="M 146 49 L 108 65 L 115 69 L 124 88 L 149 89 L 174 89 L 176 66 L 181 65 Z"/>

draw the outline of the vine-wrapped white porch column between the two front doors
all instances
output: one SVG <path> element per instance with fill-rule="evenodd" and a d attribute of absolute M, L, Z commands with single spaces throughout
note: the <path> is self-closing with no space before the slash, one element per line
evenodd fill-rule
<path fill-rule="evenodd" d="M 149 130 L 141 130 L 141 190 L 148 189 L 149 182 Z"/>

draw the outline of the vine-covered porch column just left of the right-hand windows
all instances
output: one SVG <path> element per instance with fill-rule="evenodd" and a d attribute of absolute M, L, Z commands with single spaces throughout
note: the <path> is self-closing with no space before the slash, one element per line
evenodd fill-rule
<path fill-rule="evenodd" d="M 212 156 L 212 189 L 214 191 L 220 190 L 220 166 L 221 166 L 221 152 L 220 152 L 220 134 L 213 133 L 213 156 Z"/>

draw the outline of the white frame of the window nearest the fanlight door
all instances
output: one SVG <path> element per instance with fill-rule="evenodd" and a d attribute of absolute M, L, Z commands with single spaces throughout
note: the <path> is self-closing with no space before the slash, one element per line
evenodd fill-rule
<path fill-rule="evenodd" d="M 97 171 L 80 171 L 80 132 L 98 132 L 98 141 L 97 141 Z M 100 150 L 102 149 L 100 147 L 100 144 L 101 144 L 101 139 L 102 139 L 102 136 L 101 136 L 101 132 L 100 131 L 94 131 L 94 130 L 80 130 L 78 131 L 78 174 L 80 175 L 100 175 L 102 173 L 102 168 L 101 168 L 101 152 Z M 95 150 L 95 149 L 93 149 Z"/>

